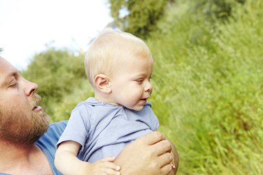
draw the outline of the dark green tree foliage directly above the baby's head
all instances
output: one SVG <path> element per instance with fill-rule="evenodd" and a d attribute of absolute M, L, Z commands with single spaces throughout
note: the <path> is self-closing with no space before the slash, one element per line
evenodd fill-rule
<path fill-rule="evenodd" d="M 156 30 L 156 22 L 163 17 L 167 0 L 109 0 L 114 24 L 141 38 Z M 127 12 L 125 17 L 121 12 Z"/>

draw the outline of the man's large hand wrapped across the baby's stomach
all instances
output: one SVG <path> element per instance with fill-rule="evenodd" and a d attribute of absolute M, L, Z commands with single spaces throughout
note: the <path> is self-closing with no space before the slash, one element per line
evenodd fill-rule
<path fill-rule="evenodd" d="M 171 143 L 155 131 L 127 145 L 114 163 L 120 165 L 123 175 L 167 175 L 173 171 L 171 151 Z"/>

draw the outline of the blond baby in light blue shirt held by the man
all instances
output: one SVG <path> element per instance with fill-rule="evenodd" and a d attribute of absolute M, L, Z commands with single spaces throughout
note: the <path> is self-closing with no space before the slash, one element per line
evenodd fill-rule
<path fill-rule="evenodd" d="M 105 30 L 93 40 L 85 70 L 95 95 L 73 109 L 57 142 L 55 166 L 62 174 L 120 174 L 114 158 L 158 129 L 147 102 L 152 66 L 149 48 L 134 35 Z"/>

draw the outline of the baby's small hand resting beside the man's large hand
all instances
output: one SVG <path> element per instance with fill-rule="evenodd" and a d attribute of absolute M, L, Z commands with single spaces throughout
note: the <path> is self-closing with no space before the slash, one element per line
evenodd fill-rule
<path fill-rule="evenodd" d="M 120 175 L 120 167 L 115 165 L 114 157 L 103 158 L 95 163 L 91 163 L 91 168 L 88 174 L 93 175 Z"/>

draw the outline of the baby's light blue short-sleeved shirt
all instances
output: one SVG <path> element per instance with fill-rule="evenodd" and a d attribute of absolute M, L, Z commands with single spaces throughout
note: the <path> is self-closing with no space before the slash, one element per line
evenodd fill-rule
<path fill-rule="evenodd" d="M 158 129 L 158 119 L 147 102 L 141 111 L 89 98 L 71 111 L 69 122 L 57 142 L 78 142 L 80 160 L 93 163 L 118 156 L 129 142 Z"/>

